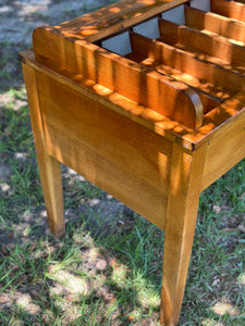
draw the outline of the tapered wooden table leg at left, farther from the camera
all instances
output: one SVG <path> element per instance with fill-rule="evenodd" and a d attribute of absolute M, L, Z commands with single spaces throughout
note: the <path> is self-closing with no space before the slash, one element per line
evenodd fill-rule
<path fill-rule="evenodd" d="M 65 231 L 65 227 L 60 163 L 50 156 L 47 151 L 35 71 L 25 63 L 23 63 L 22 67 L 28 97 L 37 163 L 48 213 L 48 223 L 51 233 L 57 237 L 61 237 Z"/>

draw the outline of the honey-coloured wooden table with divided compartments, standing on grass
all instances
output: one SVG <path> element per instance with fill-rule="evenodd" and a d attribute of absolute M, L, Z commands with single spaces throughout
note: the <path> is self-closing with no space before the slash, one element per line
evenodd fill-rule
<path fill-rule="evenodd" d="M 34 32 L 20 59 L 48 221 L 60 162 L 164 230 L 161 323 L 182 305 L 200 192 L 245 156 L 245 2 L 125 0 Z"/>

